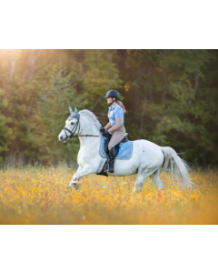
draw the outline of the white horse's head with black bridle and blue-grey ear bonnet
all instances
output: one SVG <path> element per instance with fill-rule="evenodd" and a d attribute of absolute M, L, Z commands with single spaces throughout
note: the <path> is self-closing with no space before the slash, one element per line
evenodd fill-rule
<path fill-rule="evenodd" d="M 70 116 L 65 122 L 64 129 L 61 131 L 58 136 L 59 141 L 65 143 L 69 138 L 72 138 L 74 135 L 79 133 L 80 130 L 80 114 L 75 108 L 74 111 L 70 107 Z"/>

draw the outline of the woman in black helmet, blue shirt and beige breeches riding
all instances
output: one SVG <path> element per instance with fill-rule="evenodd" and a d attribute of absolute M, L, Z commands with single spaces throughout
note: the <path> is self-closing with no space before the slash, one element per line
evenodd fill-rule
<path fill-rule="evenodd" d="M 120 143 L 125 136 L 124 113 L 126 113 L 124 105 L 119 101 L 119 93 L 116 90 L 110 90 L 106 96 L 109 107 L 108 118 L 109 123 L 101 129 L 103 136 L 112 135 L 108 144 L 109 164 L 104 172 L 114 173 L 115 149 L 114 147 Z"/>

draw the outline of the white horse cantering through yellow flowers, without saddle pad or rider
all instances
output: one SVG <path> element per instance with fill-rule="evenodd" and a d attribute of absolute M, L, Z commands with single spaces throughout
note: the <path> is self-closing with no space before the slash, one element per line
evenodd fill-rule
<path fill-rule="evenodd" d="M 106 158 L 99 153 L 102 135 L 101 124 L 97 117 L 88 110 L 79 113 L 76 108 L 70 108 L 71 116 L 65 122 L 65 127 L 58 136 L 59 141 L 66 142 L 71 136 L 79 136 L 80 150 L 77 157 L 78 169 L 74 174 L 69 188 L 77 187 L 81 177 L 100 173 Z M 159 147 L 147 140 L 133 141 L 133 157 L 128 160 L 115 159 L 114 173 L 108 176 L 124 177 L 137 174 L 134 192 L 141 191 L 144 180 L 151 177 L 154 184 L 164 189 L 164 184 L 159 177 L 160 172 L 171 167 L 172 177 L 176 177 L 181 187 L 191 187 L 193 183 L 188 176 L 188 166 L 171 147 Z"/>

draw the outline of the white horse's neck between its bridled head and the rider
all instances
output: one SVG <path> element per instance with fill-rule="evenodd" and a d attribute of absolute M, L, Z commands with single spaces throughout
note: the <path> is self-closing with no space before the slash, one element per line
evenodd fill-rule
<path fill-rule="evenodd" d="M 100 142 L 101 133 L 99 129 L 94 126 L 92 121 L 88 119 L 82 118 L 81 120 L 81 131 L 80 135 L 92 135 L 92 136 L 80 136 L 80 146 L 92 146 L 96 147 L 97 143 Z"/>

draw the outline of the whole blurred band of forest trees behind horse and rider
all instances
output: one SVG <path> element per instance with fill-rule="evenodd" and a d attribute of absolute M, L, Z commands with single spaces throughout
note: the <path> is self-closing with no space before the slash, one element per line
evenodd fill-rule
<path fill-rule="evenodd" d="M 68 107 L 107 122 L 104 94 L 120 92 L 130 139 L 173 147 L 189 163 L 218 163 L 218 50 L 1 49 L 0 162 L 75 160 L 57 136 Z"/>

